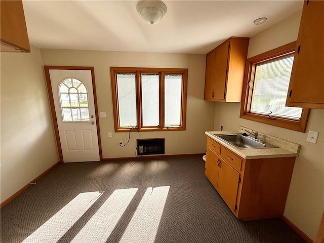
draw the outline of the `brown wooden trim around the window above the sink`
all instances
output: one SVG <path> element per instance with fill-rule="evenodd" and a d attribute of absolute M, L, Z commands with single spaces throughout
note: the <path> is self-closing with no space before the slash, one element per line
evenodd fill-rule
<path fill-rule="evenodd" d="M 248 84 L 252 82 L 251 77 L 254 76 L 255 65 L 261 62 L 270 61 L 280 56 L 293 54 L 295 52 L 295 49 L 296 42 L 293 42 L 285 46 L 273 49 L 271 51 L 262 53 L 255 57 L 251 57 L 247 60 L 242 89 L 241 108 L 239 115 L 240 118 L 254 120 L 258 121 L 259 123 L 295 130 L 303 133 L 306 131 L 310 109 L 303 108 L 300 120 L 293 120 L 280 117 L 270 119 L 267 115 L 255 114 L 250 112 L 253 84 L 251 84 L 250 86 Z"/>

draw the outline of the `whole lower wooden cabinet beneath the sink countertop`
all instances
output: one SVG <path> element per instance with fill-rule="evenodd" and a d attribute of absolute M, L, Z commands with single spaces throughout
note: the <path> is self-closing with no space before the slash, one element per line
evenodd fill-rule
<path fill-rule="evenodd" d="M 208 137 L 205 175 L 236 218 L 284 214 L 295 157 L 244 159 Z"/>

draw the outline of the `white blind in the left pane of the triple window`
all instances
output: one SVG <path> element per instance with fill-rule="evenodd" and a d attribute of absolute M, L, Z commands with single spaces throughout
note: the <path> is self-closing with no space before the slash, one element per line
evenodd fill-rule
<path fill-rule="evenodd" d="M 137 126 L 135 73 L 117 73 L 119 126 Z"/>

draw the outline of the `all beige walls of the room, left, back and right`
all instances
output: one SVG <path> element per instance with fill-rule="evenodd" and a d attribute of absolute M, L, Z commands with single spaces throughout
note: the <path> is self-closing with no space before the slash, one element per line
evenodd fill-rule
<path fill-rule="evenodd" d="M 248 57 L 297 39 L 301 13 L 250 39 Z M 114 133 L 110 66 L 188 68 L 187 129 L 142 132 L 141 138 L 166 138 L 166 154 L 206 151 L 205 131 L 253 128 L 302 145 L 296 159 L 285 216 L 314 239 L 324 208 L 324 111 L 312 109 L 306 133 L 239 118 L 240 103 L 204 101 L 205 55 L 41 50 L 1 54 L 1 201 L 17 192 L 58 161 L 42 65 L 95 68 L 104 158 L 133 157 L 137 134 L 124 148 L 127 133 Z M 308 131 L 319 132 L 317 144 L 306 142 Z M 112 138 L 108 138 L 108 132 Z"/>

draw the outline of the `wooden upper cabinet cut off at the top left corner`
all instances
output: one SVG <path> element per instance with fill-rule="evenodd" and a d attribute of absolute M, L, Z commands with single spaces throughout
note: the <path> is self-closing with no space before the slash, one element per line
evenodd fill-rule
<path fill-rule="evenodd" d="M 24 9 L 20 1 L 0 1 L 1 51 L 30 52 Z"/>

